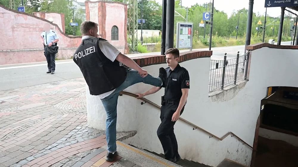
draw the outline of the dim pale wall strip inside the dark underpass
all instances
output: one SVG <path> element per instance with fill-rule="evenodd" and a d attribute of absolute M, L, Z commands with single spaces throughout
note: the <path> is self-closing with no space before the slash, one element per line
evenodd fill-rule
<path fill-rule="evenodd" d="M 287 143 L 290 143 L 293 146 L 298 146 L 298 136 L 294 136 L 291 134 L 285 134 L 281 132 L 272 131 L 269 129 L 260 128 L 259 135 L 267 139 L 283 140 Z"/>

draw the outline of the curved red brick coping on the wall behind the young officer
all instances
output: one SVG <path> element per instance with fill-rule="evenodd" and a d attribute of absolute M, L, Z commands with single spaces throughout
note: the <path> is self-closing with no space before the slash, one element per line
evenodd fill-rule
<path fill-rule="evenodd" d="M 179 62 L 195 58 L 206 58 L 212 55 L 212 51 L 190 51 L 180 53 Z M 132 58 L 140 67 L 165 63 L 165 55 L 144 55 Z"/>

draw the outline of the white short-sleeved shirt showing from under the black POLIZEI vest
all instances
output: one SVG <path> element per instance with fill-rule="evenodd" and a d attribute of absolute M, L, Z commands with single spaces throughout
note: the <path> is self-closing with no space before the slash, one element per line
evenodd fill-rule
<path fill-rule="evenodd" d="M 96 38 L 96 37 L 85 35 L 85 36 L 82 37 L 82 41 L 84 39 L 89 39 L 89 38 Z M 107 57 L 108 59 L 110 59 L 113 62 L 116 60 L 117 56 L 120 53 L 120 51 L 116 47 L 114 47 L 108 41 L 105 41 L 105 40 L 100 40 L 98 45 L 99 45 L 100 50 L 105 55 L 105 57 Z M 122 63 L 119 63 L 119 66 L 122 66 Z M 100 99 L 103 99 L 103 98 L 108 97 L 109 95 L 111 95 L 114 91 L 115 91 L 115 89 L 111 90 L 109 92 L 100 94 L 98 96 L 99 96 Z"/>

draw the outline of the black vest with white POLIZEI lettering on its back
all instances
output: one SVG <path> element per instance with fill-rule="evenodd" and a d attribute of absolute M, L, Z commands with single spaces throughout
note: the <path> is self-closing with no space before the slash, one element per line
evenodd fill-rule
<path fill-rule="evenodd" d="M 119 87 L 126 79 L 125 67 L 119 61 L 112 62 L 100 50 L 102 38 L 84 39 L 73 56 L 89 86 L 91 95 L 100 95 Z"/>

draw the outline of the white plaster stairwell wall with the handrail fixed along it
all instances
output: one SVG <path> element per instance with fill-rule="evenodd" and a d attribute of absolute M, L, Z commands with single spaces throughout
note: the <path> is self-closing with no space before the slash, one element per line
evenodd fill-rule
<path fill-rule="evenodd" d="M 190 74 L 190 92 L 187 105 L 181 117 L 200 126 L 201 128 L 222 137 L 228 132 L 233 132 L 251 146 L 254 141 L 254 132 L 257 118 L 260 114 L 260 100 L 266 95 L 269 86 L 294 86 L 298 87 L 297 76 L 298 50 L 281 50 L 261 48 L 252 51 L 249 71 L 249 82 L 239 91 L 219 98 L 208 97 L 209 63 L 210 58 L 198 58 L 181 63 Z M 162 65 L 145 67 L 150 74 L 157 76 L 158 68 Z M 285 75 L 286 74 L 286 75 Z M 126 91 L 141 93 L 150 86 L 136 84 Z M 160 105 L 160 96 L 163 89 L 154 95 L 149 95 L 149 100 Z M 92 102 L 94 97 L 87 95 L 88 115 L 104 115 L 104 110 L 91 110 L 89 106 L 100 106 Z M 129 99 L 129 100 L 127 100 Z M 139 148 L 162 153 L 162 147 L 156 135 L 159 126 L 159 111 L 152 106 L 141 105 L 140 100 L 123 95 L 119 97 L 118 124 L 123 123 L 117 130 L 133 129 L 138 131 L 129 142 Z M 123 111 L 123 112 L 122 112 Z M 104 121 L 89 119 L 88 123 Z M 94 124 L 94 123 L 93 123 Z M 99 128 L 104 128 L 100 127 Z M 235 137 L 228 136 L 223 141 L 209 138 L 209 135 L 192 127 L 177 122 L 175 134 L 179 143 L 179 153 L 182 158 L 217 166 L 224 158 L 234 160 L 243 165 L 250 165 L 252 149 L 243 145 Z"/>

